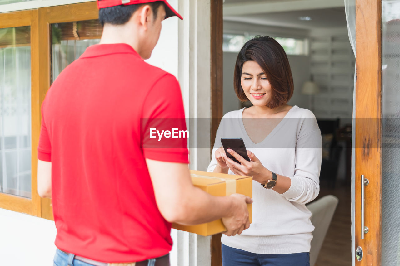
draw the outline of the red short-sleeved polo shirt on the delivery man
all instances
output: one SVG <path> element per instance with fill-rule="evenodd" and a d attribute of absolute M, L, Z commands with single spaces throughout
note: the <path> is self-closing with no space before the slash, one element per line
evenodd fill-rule
<path fill-rule="evenodd" d="M 188 163 L 187 139 L 146 148 L 142 118 L 182 121 L 182 94 L 173 75 L 127 44 L 89 47 L 52 84 L 42 105 L 38 158 L 52 162 L 61 250 L 103 262 L 171 250 L 171 224 L 157 208 L 145 158 Z M 186 129 L 184 122 L 176 127 Z"/>

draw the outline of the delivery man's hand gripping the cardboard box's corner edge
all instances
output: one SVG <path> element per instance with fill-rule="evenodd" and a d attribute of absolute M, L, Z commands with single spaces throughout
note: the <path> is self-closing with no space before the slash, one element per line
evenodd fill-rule
<path fill-rule="evenodd" d="M 241 234 L 243 230 L 249 228 L 249 212 L 247 209 L 247 204 L 253 202 L 250 197 L 244 196 L 242 194 L 232 194 L 232 202 L 234 211 L 228 217 L 222 217 L 222 222 L 226 227 L 227 231 L 224 232 L 227 236 L 234 236 L 235 234 Z"/>

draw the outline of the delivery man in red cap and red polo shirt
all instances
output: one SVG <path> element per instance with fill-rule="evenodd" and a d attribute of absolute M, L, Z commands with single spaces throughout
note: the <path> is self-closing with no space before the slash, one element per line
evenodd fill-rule
<path fill-rule="evenodd" d="M 52 197 L 55 265 L 169 265 L 171 222 L 222 218 L 226 234 L 240 234 L 252 199 L 194 187 L 186 138 L 144 145 L 142 118 L 184 118 L 176 78 L 144 62 L 162 20 L 182 17 L 165 0 L 98 7 L 100 44 L 60 73 L 42 104 L 38 192 Z"/>

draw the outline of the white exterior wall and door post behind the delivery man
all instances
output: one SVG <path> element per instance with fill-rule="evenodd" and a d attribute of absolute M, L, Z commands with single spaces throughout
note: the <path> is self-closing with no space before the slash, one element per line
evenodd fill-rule
<path fill-rule="evenodd" d="M 85 0 L 35 0 L 14 6 L 0 6 L 0 12 L 38 8 Z M 176 75 L 182 87 L 186 117 L 210 117 L 210 2 L 198 0 L 170 0 L 184 17 L 163 22 L 160 40 L 148 60 Z M 188 125 L 197 130 L 196 123 Z M 209 128 L 203 128 L 210 132 Z M 200 139 L 201 138 L 201 139 Z M 209 134 L 202 134 L 195 143 L 210 142 Z M 210 150 L 191 149 L 190 168 L 205 169 L 210 161 Z M 54 222 L 34 216 L 0 209 L 0 265 L 52 265 L 56 229 Z M 208 266 L 211 263 L 210 237 L 172 230 L 174 246 L 172 266 Z"/>

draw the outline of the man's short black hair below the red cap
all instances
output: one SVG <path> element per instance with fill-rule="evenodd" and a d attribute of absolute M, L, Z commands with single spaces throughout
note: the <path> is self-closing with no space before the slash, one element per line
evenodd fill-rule
<path fill-rule="evenodd" d="M 141 6 L 149 5 L 153 11 L 154 19 L 157 18 L 158 8 L 164 4 L 162 1 L 150 2 L 146 4 L 134 4 L 134 5 L 119 5 L 111 6 L 108 8 L 100 8 L 99 10 L 99 21 L 104 26 L 106 23 L 113 25 L 123 25 L 130 20 L 133 13 L 138 10 Z"/>

